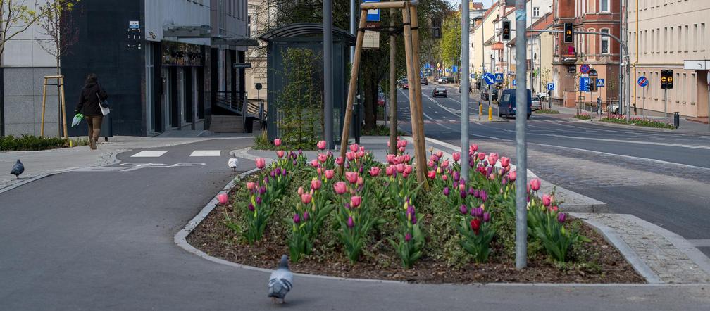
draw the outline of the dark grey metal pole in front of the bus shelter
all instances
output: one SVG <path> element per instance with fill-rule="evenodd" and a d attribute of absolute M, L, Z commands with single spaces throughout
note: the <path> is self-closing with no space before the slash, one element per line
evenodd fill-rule
<path fill-rule="evenodd" d="M 351 58 L 352 59 L 352 58 Z M 325 141 L 328 149 L 333 141 L 333 1 L 323 1 L 323 97 Z"/>

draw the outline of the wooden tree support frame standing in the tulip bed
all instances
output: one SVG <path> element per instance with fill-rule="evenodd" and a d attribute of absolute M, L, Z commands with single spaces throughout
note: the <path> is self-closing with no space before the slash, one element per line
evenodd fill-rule
<path fill-rule="evenodd" d="M 357 76 L 360 70 L 360 58 L 362 55 L 362 44 L 365 36 L 367 10 L 401 9 L 404 24 L 404 46 L 405 60 L 407 62 L 407 78 L 410 81 L 409 107 L 412 120 L 412 135 L 414 138 L 417 182 L 422 184 L 424 189 L 428 191 L 429 184 L 427 183 L 425 175 L 425 172 L 427 171 L 427 155 L 424 137 L 424 116 L 422 113 L 422 84 L 419 82 L 414 83 L 419 77 L 417 74 L 417 67 L 419 65 L 419 26 L 417 23 L 417 4 L 417 1 L 366 2 L 360 4 L 360 23 L 355 43 L 355 56 L 353 59 L 352 71 L 350 72 L 347 107 L 345 109 L 343 133 L 340 143 L 340 156 L 345 158 L 345 151 L 347 150 L 349 143 L 350 124 L 352 122 Z M 341 173 L 343 172 L 343 165 L 344 164 L 340 165 Z"/>

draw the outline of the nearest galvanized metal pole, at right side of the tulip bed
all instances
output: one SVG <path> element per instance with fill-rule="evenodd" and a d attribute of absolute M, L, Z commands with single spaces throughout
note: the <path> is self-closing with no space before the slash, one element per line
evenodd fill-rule
<path fill-rule="evenodd" d="M 515 0 L 515 77 L 518 83 L 525 81 L 525 0 Z M 522 81 L 521 81 L 522 80 Z M 515 180 L 515 268 L 528 266 L 528 141 L 525 126 L 528 118 L 528 94 L 524 87 L 515 89 L 515 159 L 518 178 Z"/>

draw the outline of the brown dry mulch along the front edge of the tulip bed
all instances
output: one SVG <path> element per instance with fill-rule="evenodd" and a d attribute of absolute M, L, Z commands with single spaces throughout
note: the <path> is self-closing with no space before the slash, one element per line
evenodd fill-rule
<path fill-rule="evenodd" d="M 204 221 L 187 236 L 187 242 L 210 256 L 259 268 L 275 268 L 280 256 L 288 254 L 286 237 L 266 230 L 264 239 L 255 245 L 242 244 L 234 232 L 222 224 L 225 209 L 216 207 Z M 491 254 L 491 262 L 466 263 L 460 268 L 447 266 L 444 261 L 422 257 L 414 268 L 404 269 L 388 245 L 373 246 L 366 250 L 368 256 L 352 265 L 341 252 L 329 256 L 306 257 L 300 263 L 291 263 L 297 273 L 331 275 L 342 278 L 368 278 L 400 280 L 410 283 L 645 283 L 621 253 L 606 243 L 594 229 L 581 226 L 580 234 L 591 239 L 590 249 L 599 250 L 598 269 L 567 264 L 557 266 L 544 257 L 529 258 L 528 268 L 515 269 L 514 258 L 500 258 Z M 325 258 L 325 259 L 323 259 Z"/>

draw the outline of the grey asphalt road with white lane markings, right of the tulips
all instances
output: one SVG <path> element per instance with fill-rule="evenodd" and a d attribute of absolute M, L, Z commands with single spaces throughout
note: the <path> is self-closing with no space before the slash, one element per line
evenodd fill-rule
<path fill-rule="evenodd" d="M 425 135 L 461 146 L 461 94 L 446 86 L 449 97 L 432 98 L 435 86 L 422 85 Z M 479 97 L 469 98 L 471 142 L 494 143 L 515 158 L 515 119 L 486 121 L 483 102 L 479 121 Z M 406 90 L 398 91 L 398 112 L 410 131 Z M 529 152 L 540 154 L 529 153 L 529 168 L 540 178 L 674 231 L 710 256 L 710 136 L 540 114 L 532 114 L 527 131 Z"/>

